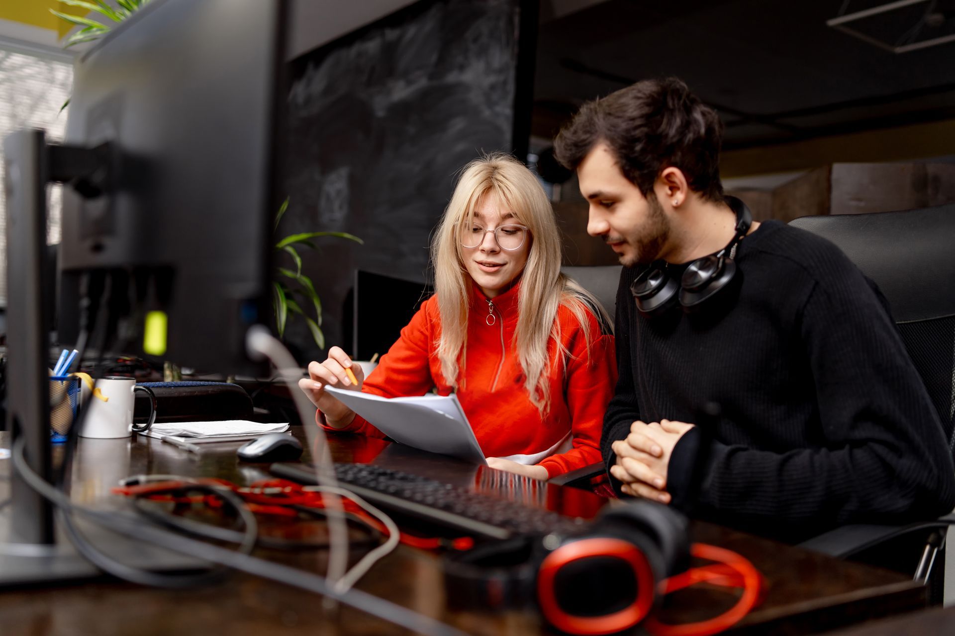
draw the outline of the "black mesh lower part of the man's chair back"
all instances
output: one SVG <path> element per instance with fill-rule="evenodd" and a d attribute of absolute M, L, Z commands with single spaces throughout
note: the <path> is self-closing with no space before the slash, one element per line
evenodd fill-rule
<path fill-rule="evenodd" d="M 955 456 L 955 316 L 899 323 L 902 341 L 939 412 Z"/>

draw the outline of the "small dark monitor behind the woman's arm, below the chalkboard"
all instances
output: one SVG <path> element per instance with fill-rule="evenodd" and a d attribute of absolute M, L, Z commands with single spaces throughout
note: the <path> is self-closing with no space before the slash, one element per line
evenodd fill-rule
<path fill-rule="evenodd" d="M 352 358 L 368 360 L 388 352 L 401 329 L 435 290 L 426 282 L 355 270 L 353 293 Z M 349 324 L 347 316 L 345 324 Z"/>

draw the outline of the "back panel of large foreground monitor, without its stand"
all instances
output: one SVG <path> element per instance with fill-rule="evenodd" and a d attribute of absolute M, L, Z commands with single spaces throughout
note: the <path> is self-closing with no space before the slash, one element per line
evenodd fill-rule
<path fill-rule="evenodd" d="M 282 26 L 281 2 L 154 0 L 76 60 L 65 143 L 109 143 L 112 165 L 101 195 L 64 189 L 63 342 L 77 332 L 78 277 L 122 268 L 131 304 L 168 318 L 162 359 L 249 370 L 244 335 L 269 321 L 282 200 Z"/>

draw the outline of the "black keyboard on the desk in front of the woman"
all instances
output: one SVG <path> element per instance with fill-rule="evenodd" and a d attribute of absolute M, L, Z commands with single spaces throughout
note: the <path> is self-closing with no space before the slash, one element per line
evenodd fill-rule
<path fill-rule="evenodd" d="M 273 463 L 270 471 L 293 482 L 315 483 L 314 469 L 308 464 Z M 381 508 L 471 536 L 507 539 L 552 532 L 576 534 L 587 523 L 542 507 L 368 463 L 336 463 L 335 474 L 351 492 Z"/>

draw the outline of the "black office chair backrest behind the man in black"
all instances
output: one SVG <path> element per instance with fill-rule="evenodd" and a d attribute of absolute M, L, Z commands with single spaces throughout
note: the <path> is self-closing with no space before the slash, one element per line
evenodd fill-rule
<path fill-rule="evenodd" d="M 955 455 L 955 205 L 790 225 L 838 245 L 879 285 Z"/>

